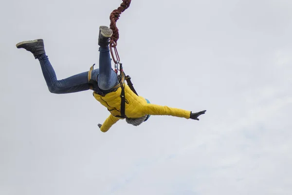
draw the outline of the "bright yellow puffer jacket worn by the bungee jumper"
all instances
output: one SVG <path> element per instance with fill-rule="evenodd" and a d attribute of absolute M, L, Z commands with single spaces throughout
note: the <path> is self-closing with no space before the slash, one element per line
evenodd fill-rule
<path fill-rule="evenodd" d="M 128 118 L 138 118 L 145 115 L 168 115 L 190 118 L 190 111 L 147 103 L 145 98 L 137 96 L 126 83 L 124 83 L 124 88 L 126 98 L 125 114 Z M 122 89 L 119 87 L 116 91 L 110 92 L 105 96 L 93 92 L 94 98 L 107 107 L 111 113 L 100 128 L 102 132 L 107 132 L 113 124 L 122 119 L 115 117 L 121 116 L 121 91 Z"/>

